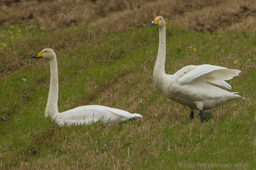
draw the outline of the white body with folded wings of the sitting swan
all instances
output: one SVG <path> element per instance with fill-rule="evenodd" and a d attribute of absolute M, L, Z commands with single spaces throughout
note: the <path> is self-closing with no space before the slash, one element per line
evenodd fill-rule
<path fill-rule="evenodd" d="M 128 111 L 100 106 L 80 106 L 64 111 L 56 117 L 60 125 L 67 124 L 90 124 L 101 120 L 104 124 L 108 122 L 126 121 L 133 117 L 143 117 L 140 114 L 131 114 Z"/>

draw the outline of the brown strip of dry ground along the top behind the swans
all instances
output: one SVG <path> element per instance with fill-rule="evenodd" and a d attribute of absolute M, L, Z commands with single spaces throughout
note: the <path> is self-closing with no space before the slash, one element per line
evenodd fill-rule
<path fill-rule="evenodd" d="M 0 24 L 62 26 L 97 24 L 125 30 L 150 23 L 157 15 L 185 29 L 202 32 L 254 29 L 255 0 L 0 0 Z"/>

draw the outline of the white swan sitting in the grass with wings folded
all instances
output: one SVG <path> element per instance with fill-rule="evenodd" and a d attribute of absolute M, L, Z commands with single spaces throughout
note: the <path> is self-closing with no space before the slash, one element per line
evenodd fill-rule
<path fill-rule="evenodd" d="M 143 117 L 140 114 L 131 114 L 127 111 L 110 108 L 99 105 L 80 106 L 71 110 L 58 112 L 58 66 L 56 54 L 52 49 L 45 49 L 31 58 L 43 58 L 50 64 L 51 82 L 48 95 L 48 101 L 45 109 L 45 117 L 52 117 L 60 126 L 90 124 L 102 121 L 103 124 L 108 122 L 122 122 L 134 117 Z"/>

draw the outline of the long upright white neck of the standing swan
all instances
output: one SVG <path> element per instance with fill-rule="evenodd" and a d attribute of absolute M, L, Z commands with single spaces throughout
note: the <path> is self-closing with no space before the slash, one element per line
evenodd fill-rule
<path fill-rule="evenodd" d="M 166 75 L 164 70 L 165 54 L 166 54 L 166 38 L 165 38 L 166 31 L 165 31 L 165 26 L 158 27 L 158 29 L 159 29 L 159 47 L 158 47 L 158 54 L 156 58 L 156 64 L 154 68 L 154 79 L 155 79 L 155 82 L 162 82 L 163 76 Z"/>

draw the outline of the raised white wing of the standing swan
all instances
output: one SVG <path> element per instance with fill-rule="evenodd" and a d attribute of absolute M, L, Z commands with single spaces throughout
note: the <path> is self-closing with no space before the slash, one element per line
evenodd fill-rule
<path fill-rule="evenodd" d="M 225 82 L 225 80 L 232 79 L 234 76 L 237 76 L 240 72 L 240 70 L 236 69 L 228 69 L 225 67 L 204 64 L 190 67 L 188 72 L 185 72 L 182 76 L 180 76 L 180 78 L 177 80 L 177 83 L 185 85 L 192 83 L 196 79 L 200 78 L 201 81 L 211 84 L 217 84 L 228 89 L 231 89 L 231 86 L 227 82 Z"/>

